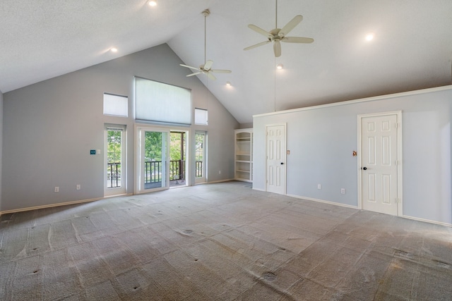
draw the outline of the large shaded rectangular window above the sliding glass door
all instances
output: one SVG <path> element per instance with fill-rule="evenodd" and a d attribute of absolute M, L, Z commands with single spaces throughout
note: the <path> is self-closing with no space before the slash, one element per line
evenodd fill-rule
<path fill-rule="evenodd" d="M 190 125 L 191 90 L 136 77 L 135 118 Z"/>

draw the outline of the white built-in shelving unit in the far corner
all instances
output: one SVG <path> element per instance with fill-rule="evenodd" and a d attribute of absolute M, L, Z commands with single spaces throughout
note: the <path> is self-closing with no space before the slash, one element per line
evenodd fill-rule
<path fill-rule="evenodd" d="M 253 129 L 235 130 L 235 180 L 253 182 Z"/>

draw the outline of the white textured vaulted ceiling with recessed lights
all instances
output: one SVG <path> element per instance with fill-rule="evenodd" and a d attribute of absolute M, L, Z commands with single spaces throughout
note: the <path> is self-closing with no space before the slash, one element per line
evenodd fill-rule
<path fill-rule="evenodd" d="M 0 91 L 167 43 L 239 123 L 252 115 L 452 83 L 451 0 L 278 0 L 278 27 L 303 20 L 275 58 L 249 24 L 275 28 L 275 0 L 36 0 L 0 2 Z M 368 33 L 374 39 L 365 39 Z M 117 47 L 118 51 L 109 51 Z M 283 64 L 283 70 L 275 66 Z M 189 69 L 182 68 L 187 75 Z M 228 87 L 225 83 L 231 82 Z"/>

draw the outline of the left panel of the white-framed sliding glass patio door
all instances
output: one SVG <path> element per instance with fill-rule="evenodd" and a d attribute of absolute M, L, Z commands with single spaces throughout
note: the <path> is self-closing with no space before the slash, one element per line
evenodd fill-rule
<path fill-rule="evenodd" d="M 137 128 L 138 193 L 169 188 L 169 131 Z"/>

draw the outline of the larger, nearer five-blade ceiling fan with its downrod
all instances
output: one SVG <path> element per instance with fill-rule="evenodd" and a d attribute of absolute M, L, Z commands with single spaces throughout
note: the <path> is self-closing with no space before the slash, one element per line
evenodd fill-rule
<path fill-rule="evenodd" d="M 248 25 L 251 30 L 254 30 L 255 32 L 260 33 L 261 35 L 265 36 L 267 38 L 266 41 L 252 45 L 250 47 L 246 47 L 244 50 L 253 49 L 265 44 L 268 44 L 270 42 L 273 42 L 273 51 L 275 52 L 275 56 L 281 56 L 281 43 L 280 42 L 286 42 L 286 43 L 312 43 L 314 42 L 314 39 L 311 39 L 310 37 L 286 37 L 286 35 L 294 29 L 295 26 L 297 26 L 300 22 L 303 20 L 302 15 L 297 15 L 292 20 L 289 21 L 283 28 L 278 28 L 278 0 L 276 0 L 276 13 L 275 13 L 275 29 L 270 30 L 270 32 L 263 30 L 260 27 L 257 27 L 256 25 L 250 24 Z"/>

